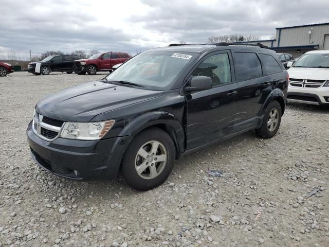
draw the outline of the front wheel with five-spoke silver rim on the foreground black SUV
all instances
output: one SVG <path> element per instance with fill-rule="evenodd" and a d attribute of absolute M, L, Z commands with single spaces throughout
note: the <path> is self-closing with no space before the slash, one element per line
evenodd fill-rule
<path fill-rule="evenodd" d="M 151 128 L 139 133 L 127 148 L 122 170 L 124 178 L 136 190 L 149 190 L 168 178 L 175 160 L 171 137 L 163 130 Z"/>

